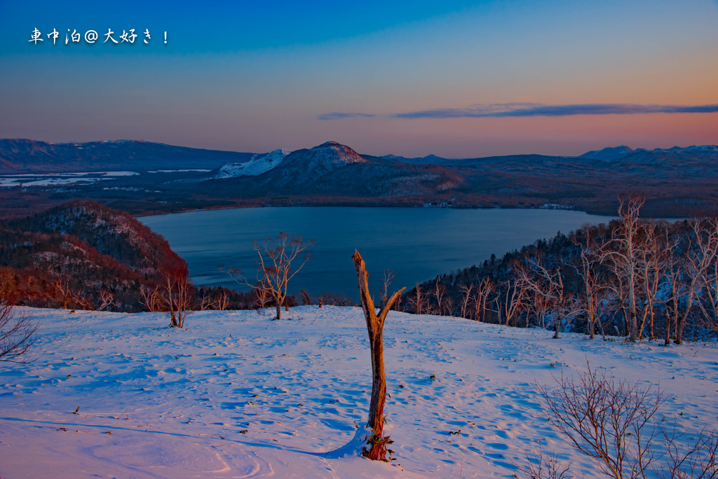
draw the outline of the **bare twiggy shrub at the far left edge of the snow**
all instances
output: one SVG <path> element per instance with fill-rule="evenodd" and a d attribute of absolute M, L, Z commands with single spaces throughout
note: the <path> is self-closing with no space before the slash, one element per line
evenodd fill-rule
<path fill-rule="evenodd" d="M 16 301 L 14 281 L 3 276 L 0 278 L 0 361 L 22 363 L 19 358 L 37 339 L 35 332 L 39 325 L 17 314 Z"/>

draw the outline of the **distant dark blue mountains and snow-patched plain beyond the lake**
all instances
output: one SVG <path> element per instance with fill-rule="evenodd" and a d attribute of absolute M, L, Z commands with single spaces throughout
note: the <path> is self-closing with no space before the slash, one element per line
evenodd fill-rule
<path fill-rule="evenodd" d="M 68 176 L 69 173 L 115 172 Z M 136 174 L 118 172 L 132 171 Z M 61 181 L 53 175 L 61 175 Z M 101 176 L 101 177 L 100 177 Z M 21 186 L 22 185 L 22 186 Z M 560 207 L 612 214 L 648 196 L 658 216 L 718 212 L 718 146 L 603 148 L 581 156 L 370 156 L 327 142 L 236 153 L 144 141 L 0 140 L 0 215 L 96 199 L 133 213 L 266 204 Z"/>

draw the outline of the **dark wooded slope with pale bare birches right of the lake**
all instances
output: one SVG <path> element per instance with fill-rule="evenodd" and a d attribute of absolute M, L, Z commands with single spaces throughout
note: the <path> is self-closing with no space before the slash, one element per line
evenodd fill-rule
<path fill-rule="evenodd" d="M 662 338 L 718 333 L 718 219 L 673 224 L 638 216 L 625 196 L 620 220 L 492 257 L 417 284 L 404 307 L 507 326 Z"/>

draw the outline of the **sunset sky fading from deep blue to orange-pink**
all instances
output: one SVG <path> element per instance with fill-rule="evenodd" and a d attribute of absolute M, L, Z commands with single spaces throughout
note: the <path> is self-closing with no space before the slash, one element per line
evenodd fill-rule
<path fill-rule="evenodd" d="M 0 0 L 0 138 L 447 157 L 718 144 L 718 0 L 229 3 Z"/>

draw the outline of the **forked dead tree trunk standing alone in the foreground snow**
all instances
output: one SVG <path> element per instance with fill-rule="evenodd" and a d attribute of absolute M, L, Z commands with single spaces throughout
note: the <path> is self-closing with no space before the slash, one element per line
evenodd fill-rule
<path fill-rule="evenodd" d="M 386 376 L 384 376 L 384 347 L 383 347 L 383 328 L 386 314 L 391 309 L 391 305 L 397 300 L 399 295 L 406 289 L 401 288 L 381 305 L 381 311 L 378 316 L 374 307 L 374 300 L 369 293 L 369 274 L 366 272 L 366 265 L 358 251 L 354 251 L 352 256 L 354 265 L 357 269 L 359 279 L 359 295 L 361 305 L 364 309 L 366 318 L 366 328 L 369 333 L 369 347 L 371 351 L 371 402 L 369 403 L 369 419 L 367 421 L 367 429 L 371 430 L 367 437 L 368 449 L 364 447 L 363 456 L 372 460 L 386 461 L 387 445 L 389 437 L 383 435 L 384 428 L 384 403 L 386 402 Z"/>

